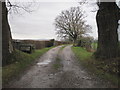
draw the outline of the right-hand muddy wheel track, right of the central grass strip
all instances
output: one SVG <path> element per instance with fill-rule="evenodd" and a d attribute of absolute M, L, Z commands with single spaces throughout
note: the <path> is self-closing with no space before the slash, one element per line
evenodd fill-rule
<path fill-rule="evenodd" d="M 88 72 L 78 63 L 75 55 L 67 46 L 61 51 L 62 71 L 56 77 L 56 88 L 107 88 L 112 87 L 109 82 L 105 82 Z"/>

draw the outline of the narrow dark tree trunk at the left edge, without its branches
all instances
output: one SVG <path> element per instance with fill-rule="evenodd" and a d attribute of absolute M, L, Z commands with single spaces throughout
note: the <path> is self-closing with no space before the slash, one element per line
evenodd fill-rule
<path fill-rule="evenodd" d="M 5 2 L 2 2 L 2 63 L 6 64 L 7 57 L 13 51 L 12 36 L 8 23 L 8 11 Z"/>

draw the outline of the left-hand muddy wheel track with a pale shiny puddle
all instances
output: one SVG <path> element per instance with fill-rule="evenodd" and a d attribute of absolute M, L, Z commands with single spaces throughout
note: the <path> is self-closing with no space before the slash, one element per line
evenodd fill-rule
<path fill-rule="evenodd" d="M 53 78 L 52 65 L 61 47 L 50 49 L 24 75 L 11 81 L 5 88 L 50 88 Z"/>

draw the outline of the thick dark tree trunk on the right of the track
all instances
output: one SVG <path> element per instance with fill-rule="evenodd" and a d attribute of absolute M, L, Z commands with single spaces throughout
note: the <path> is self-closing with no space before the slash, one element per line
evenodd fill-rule
<path fill-rule="evenodd" d="M 119 55 L 118 20 L 120 9 L 115 2 L 101 2 L 97 12 L 98 48 L 96 58 L 115 58 Z"/>

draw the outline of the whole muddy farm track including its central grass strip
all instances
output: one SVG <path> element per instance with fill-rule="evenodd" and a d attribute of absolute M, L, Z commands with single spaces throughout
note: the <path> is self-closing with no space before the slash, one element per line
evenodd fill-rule
<path fill-rule="evenodd" d="M 11 81 L 7 88 L 105 88 L 108 82 L 92 76 L 82 68 L 71 46 L 55 47 L 45 53 L 38 62 L 19 79 Z"/>

